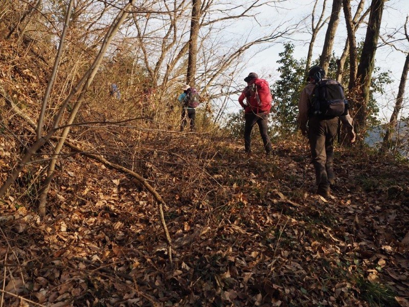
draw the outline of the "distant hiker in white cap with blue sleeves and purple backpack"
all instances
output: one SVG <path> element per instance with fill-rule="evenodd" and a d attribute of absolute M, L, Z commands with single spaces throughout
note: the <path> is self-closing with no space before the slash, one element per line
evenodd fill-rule
<path fill-rule="evenodd" d="M 183 93 L 177 100 L 182 104 L 182 113 L 180 115 L 180 131 L 183 131 L 190 120 L 190 131 L 195 131 L 196 107 L 199 105 L 199 94 L 195 87 L 185 84 L 182 87 Z"/>

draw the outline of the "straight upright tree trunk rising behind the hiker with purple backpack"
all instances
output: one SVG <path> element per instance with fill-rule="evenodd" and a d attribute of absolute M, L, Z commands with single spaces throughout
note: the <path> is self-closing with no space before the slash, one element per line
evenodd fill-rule
<path fill-rule="evenodd" d="M 192 0 L 192 18 L 190 21 L 189 58 L 186 84 L 195 85 L 197 62 L 197 38 L 200 29 L 200 0 Z"/>

